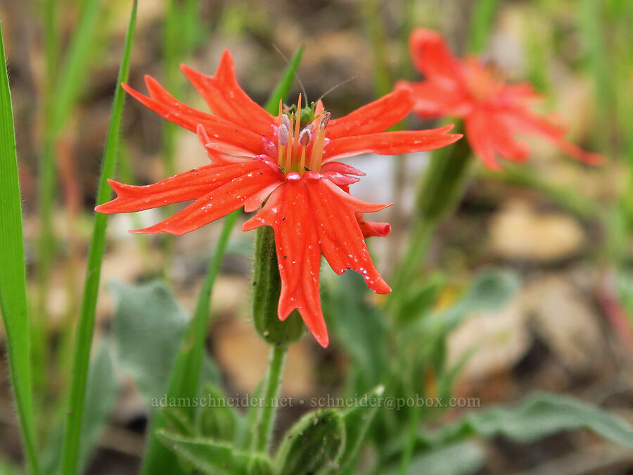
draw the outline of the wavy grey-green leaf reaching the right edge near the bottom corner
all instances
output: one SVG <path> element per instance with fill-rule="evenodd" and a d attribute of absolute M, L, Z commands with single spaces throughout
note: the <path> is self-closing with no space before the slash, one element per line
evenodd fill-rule
<path fill-rule="evenodd" d="M 587 429 L 633 447 L 633 428 L 620 417 L 568 395 L 534 393 L 522 403 L 469 414 L 442 429 L 442 439 L 504 436 L 518 443 L 537 441 L 561 431 Z"/>

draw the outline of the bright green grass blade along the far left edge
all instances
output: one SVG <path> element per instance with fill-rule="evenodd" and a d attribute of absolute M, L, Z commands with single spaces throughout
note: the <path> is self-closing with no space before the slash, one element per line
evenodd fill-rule
<path fill-rule="evenodd" d="M 6 329 L 11 385 L 18 406 L 25 457 L 33 473 L 39 473 L 35 447 L 34 415 L 29 365 L 29 323 L 22 236 L 22 208 L 15 151 L 13 108 L 8 84 L 4 41 L 0 27 L 0 309 Z"/>

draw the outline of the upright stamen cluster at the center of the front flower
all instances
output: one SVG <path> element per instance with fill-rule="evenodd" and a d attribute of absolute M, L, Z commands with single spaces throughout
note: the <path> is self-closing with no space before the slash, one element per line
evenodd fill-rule
<path fill-rule="evenodd" d="M 286 175 L 290 172 L 303 175 L 310 170 L 319 172 L 323 149 L 326 146 L 325 130 L 330 120 L 330 113 L 322 110 L 314 116 L 311 108 L 302 110 L 301 94 L 299 94 L 296 112 L 296 116 L 294 110 L 284 112 L 282 103 L 279 101 L 277 165 Z M 302 118 L 308 122 L 304 126 L 301 123 Z"/>

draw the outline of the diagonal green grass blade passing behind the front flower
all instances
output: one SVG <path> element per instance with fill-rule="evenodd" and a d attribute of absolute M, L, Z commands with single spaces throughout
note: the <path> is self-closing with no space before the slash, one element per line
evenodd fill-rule
<path fill-rule="evenodd" d="M 281 79 L 273 89 L 267 103 L 266 110 L 271 114 L 279 111 L 279 100 L 283 100 L 288 95 L 290 87 L 293 84 L 297 68 L 301 61 L 303 47 L 300 46 L 290 58 L 286 70 L 283 72 Z M 222 234 L 217 243 L 213 262 L 209 266 L 207 276 L 203 288 L 200 289 L 198 302 L 196 303 L 196 311 L 189 324 L 184 341 L 181 346 L 180 353 L 174 363 L 174 369 L 170 375 L 170 384 L 167 388 L 167 395 L 171 398 L 195 398 L 198 395 L 198 387 L 200 385 L 200 367 L 202 365 L 204 353 L 204 341 L 207 329 L 207 317 L 211 306 L 211 294 L 219 268 L 222 264 L 222 258 L 229 243 L 229 235 L 234 228 L 240 211 L 234 211 L 224 218 L 224 227 Z M 149 433 L 150 439 L 146 457 L 143 460 L 141 473 L 151 475 L 156 473 L 179 473 L 180 465 L 175 455 L 165 448 L 158 438 L 155 436 L 156 431 L 161 429 L 163 425 L 162 415 L 158 413 L 153 420 Z"/>

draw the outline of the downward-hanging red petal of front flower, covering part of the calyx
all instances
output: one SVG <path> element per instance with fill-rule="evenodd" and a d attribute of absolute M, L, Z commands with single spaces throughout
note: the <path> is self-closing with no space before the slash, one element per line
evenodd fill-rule
<path fill-rule="evenodd" d="M 371 262 L 356 216 L 385 206 L 353 198 L 319 174 L 309 172 L 301 179 L 297 174 L 288 177 L 264 208 L 243 224 L 244 231 L 260 226 L 274 229 L 281 275 L 281 319 L 298 309 L 316 341 L 328 345 L 319 297 L 321 253 L 335 272 L 354 269 L 374 291 L 391 290 Z"/>

